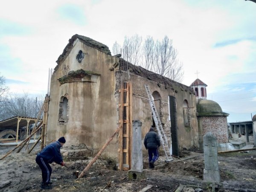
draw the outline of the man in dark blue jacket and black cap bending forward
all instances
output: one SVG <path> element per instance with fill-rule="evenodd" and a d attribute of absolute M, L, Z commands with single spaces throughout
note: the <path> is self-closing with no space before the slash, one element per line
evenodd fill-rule
<path fill-rule="evenodd" d="M 42 189 L 50 189 L 49 184 L 50 177 L 52 174 L 52 168 L 49 163 L 55 162 L 61 166 L 65 166 L 64 161 L 61 157 L 61 147 L 66 143 L 64 137 L 58 139 L 58 141 L 47 145 L 40 153 L 37 154 L 35 161 L 42 170 L 43 182 L 41 184 Z"/>

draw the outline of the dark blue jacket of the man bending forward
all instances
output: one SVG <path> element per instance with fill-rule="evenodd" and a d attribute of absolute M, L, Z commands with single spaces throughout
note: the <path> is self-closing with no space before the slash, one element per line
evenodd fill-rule
<path fill-rule="evenodd" d="M 60 165 L 63 161 L 61 157 L 61 143 L 56 141 L 47 145 L 40 153 L 38 153 L 38 155 L 47 160 L 49 163 L 54 161 Z"/>

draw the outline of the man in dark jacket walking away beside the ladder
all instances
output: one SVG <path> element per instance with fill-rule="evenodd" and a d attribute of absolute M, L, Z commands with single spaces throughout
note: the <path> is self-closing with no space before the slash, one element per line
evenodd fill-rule
<path fill-rule="evenodd" d="M 149 132 L 145 135 L 144 145 L 145 148 L 148 149 L 149 168 L 152 169 L 154 168 L 154 162 L 158 159 L 157 147 L 160 147 L 161 145 L 160 137 L 156 132 L 154 132 L 153 127 L 151 127 Z"/>

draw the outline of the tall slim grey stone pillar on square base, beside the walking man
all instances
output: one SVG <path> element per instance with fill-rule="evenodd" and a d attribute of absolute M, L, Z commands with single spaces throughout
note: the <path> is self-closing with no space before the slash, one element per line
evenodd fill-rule
<path fill-rule="evenodd" d="M 143 171 L 142 156 L 142 139 L 140 120 L 132 121 L 132 152 L 131 152 L 131 169 L 128 171 L 128 178 L 131 180 L 145 179 Z"/>

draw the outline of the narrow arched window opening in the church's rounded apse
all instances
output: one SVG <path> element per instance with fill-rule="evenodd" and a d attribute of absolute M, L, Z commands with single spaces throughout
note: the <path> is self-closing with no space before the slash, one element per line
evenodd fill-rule
<path fill-rule="evenodd" d="M 66 95 L 61 97 L 59 103 L 58 125 L 67 125 L 68 122 L 68 99 Z"/>

